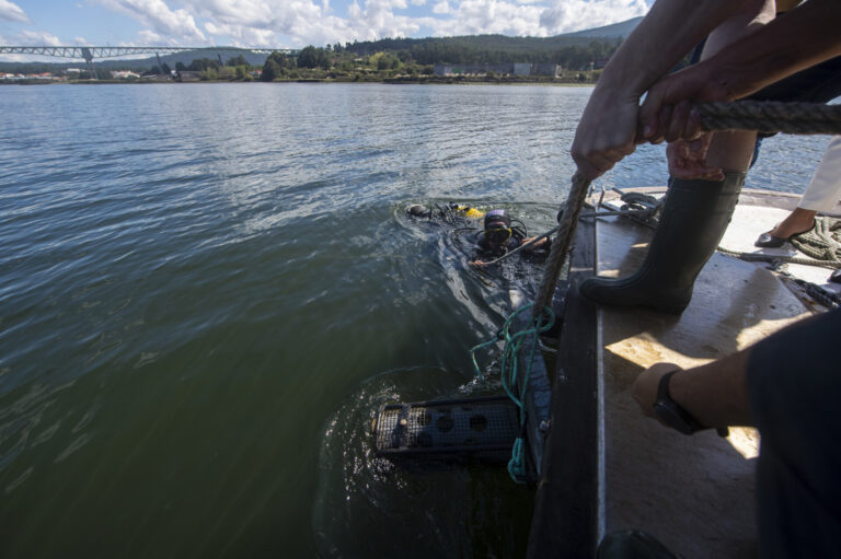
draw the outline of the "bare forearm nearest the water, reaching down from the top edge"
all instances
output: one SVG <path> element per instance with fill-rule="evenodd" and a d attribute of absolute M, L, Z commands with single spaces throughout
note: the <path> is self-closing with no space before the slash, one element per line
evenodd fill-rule
<path fill-rule="evenodd" d="M 761 7 L 757 0 L 658 0 L 611 57 L 596 90 L 638 98 L 723 21 Z"/>

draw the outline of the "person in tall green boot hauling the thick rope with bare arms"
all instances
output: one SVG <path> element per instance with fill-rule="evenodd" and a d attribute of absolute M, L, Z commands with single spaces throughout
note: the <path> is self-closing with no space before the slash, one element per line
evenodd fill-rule
<path fill-rule="evenodd" d="M 576 130 L 572 154 L 579 173 L 592 179 L 633 152 L 636 143 L 665 139 L 671 142 L 672 187 L 640 270 L 627 278 L 588 279 L 579 288 L 583 295 L 611 305 L 671 313 L 686 308 L 695 278 L 730 220 L 756 143 L 753 132 L 702 136 L 689 102 L 740 98 L 837 56 L 832 42 L 837 40 L 838 10 L 834 0 L 810 0 L 765 25 L 773 18 L 773 2 L 659 0 L 654 4 L 606 67 Z M 811 27 L 804 27 L 804 20 Z M 779 35 L 771 43 L 761 38 L 768 36 L 768 27 Z M 810 40 L 804 47 L 805 36 Z M 652 86 L 704 37 L 699 65 Z M 769 47 L 777 48 L 779 56 L 758 60 Z M 731 60 L 734 54 L 742 58 Z M 718 73 L 711 73 L 711 68 Z M 695 89 L 675 90 L 686 78 L 680 82 L 672 78 L 687 72 L 694 77 Z M 642 93 L 646 98 L 640 107 Z"/>

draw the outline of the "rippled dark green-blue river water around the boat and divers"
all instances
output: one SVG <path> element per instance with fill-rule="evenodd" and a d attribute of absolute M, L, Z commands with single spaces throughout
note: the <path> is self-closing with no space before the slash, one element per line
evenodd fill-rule
<path fill-rule="evenodd" d="M 589 88 L 0 88 L 0 556 L 515 557 L 504 467 L 372 455 L 388 401 L 492 393 L 468 349 L 539 265 L 410 203 L 552 228 Z M 802 191 L 825 138 L 765 142 Z M 642 147 L 597 185 L 664 184 Z"/>

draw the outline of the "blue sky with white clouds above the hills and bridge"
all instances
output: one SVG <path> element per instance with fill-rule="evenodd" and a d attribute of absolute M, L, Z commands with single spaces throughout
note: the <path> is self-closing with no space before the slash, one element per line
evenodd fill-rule
<path fill-rule="evenodd" d="M 548 37 L 644 15 L 653 1 L 0 0 L 0 45 L 302 48 L 389 37 Z"/>

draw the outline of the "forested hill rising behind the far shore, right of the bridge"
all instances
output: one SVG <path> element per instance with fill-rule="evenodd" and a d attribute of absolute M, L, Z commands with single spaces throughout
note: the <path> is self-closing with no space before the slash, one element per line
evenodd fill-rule
<path fill-rule="evenodd" d="M 555 35 L 554 37 L 509 37 L 506 35 L 471 35 L 463 37 L 387 38 L 345 44 L 344 49 L 358 55 L 379 51 L 407 51 L 420 63 L 495 62 L 522 60 L 552 61 L 560 49 L 587 47 L 594 39 L 617 45 L 631 34 L 642 18 L 625 22 Z M 342 48 L 342 47 L 339 47 Z"/>

